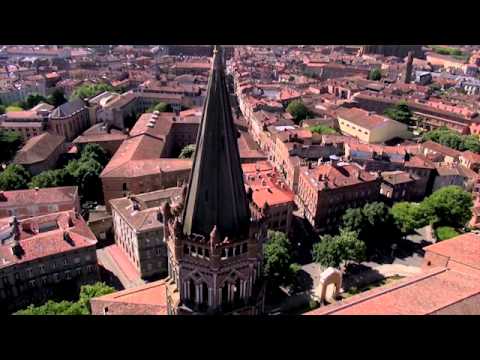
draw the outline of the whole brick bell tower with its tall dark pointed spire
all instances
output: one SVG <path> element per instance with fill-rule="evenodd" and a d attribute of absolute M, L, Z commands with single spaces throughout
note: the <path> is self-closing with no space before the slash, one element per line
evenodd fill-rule
<path fill-rule="evenodd" d="M 250 218 L 223 62 L 215 47 L 189 185 L 162 206 L 170 314 L 263 311 L 266 228 Z"/>

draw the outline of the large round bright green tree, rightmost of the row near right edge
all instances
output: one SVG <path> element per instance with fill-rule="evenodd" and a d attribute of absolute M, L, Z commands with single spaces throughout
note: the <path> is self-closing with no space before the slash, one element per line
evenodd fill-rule
<path fill-rule="evenodd" d="M 463 227 L 472 218 L 472 195 L 459 186 L 446 186 L 423 200 L 422 205 L 434 214 L 434 223 Z"/>

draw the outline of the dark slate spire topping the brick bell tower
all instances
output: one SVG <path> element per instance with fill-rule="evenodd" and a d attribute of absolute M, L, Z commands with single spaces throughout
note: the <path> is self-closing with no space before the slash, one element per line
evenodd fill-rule
<path fill-rule="evenodd" d="M 220 237 L 237 238 L 247 234 L 249 221 L 223 56 L 215 47 L 185 201 L 183 232 L 208 237 L 217 226 Z"/>

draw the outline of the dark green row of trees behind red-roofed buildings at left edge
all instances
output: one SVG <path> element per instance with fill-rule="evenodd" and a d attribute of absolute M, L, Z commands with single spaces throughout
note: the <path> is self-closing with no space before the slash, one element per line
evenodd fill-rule
<path fill-rule="evenodd" d="M 83 200 L 97 200 L 102 197 L 100 174 L 108 161 L 108 154 L 102 147 L 97 144 L 88 144 L 82 150 L 80 157 L 71 160 L 64 168 L 47 170 L 33 177 L 21 165 L 7 166 L 0 174 L 0 189 L 78 186 Z"/>

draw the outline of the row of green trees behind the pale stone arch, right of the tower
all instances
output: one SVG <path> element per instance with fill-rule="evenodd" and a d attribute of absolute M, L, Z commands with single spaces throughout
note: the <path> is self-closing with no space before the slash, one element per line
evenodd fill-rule
<path fill-rule="evenodd" d="M 449 234 L 455 234 L 454 228 L 462 228 L 470 220 L 472 205 L 468 192 L 458 186 L 448 186 L 421 203 L 400 202 L 389 208 L 384 203 L 372 202 L 348 209 L 339 234 L 320 236 L 320 241 L 313 245 L 313 260 L 325 267 L 361 262 L 377 250 L 390 249 L 402 236 L 427 225 L 452 227 Z"/>

